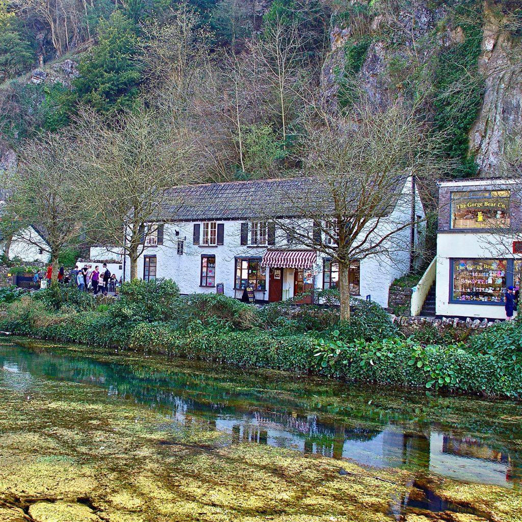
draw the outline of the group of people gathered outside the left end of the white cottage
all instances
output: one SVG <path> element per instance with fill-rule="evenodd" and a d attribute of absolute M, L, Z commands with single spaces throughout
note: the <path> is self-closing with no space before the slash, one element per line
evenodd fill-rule
<path fill-rule="evenodd" d="M 42 279 L 46 279 L 48 284 L 51 284 L 53 279 L 53 267 L 49 265 L 43 275 L 42 270 L 38 270 L 34 274 L 33 281 L 40 284 Z M 78 290 L 91 291 L 96 295 L 99 292 L 107 294 L 110 290 L 116 290 L 117 277 L 116 274 L 111 274 L 111 271 L 107 268 L 106 263 L 103 263 L 102 269 L 98 265 L 92 268 L 92 265 L 85 265 L 80 268 L 76 265 L 68 275 L 65 274 L 63 266 L 58 270 L 57 275 L 58 283 L 74 284 Z"/>

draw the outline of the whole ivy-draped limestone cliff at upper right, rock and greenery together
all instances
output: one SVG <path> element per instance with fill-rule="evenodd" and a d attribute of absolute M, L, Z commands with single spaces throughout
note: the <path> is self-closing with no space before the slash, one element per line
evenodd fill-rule
<path fill-rule="evenodd" d="M 343 7 L 339 7 L 343 5 Z M 451 136 L 456 175 L 499 173 L 522 117 L 517 2 L 456 0 L 338 3 L 322 75 L 322 102 L 349 111 L 373 103 L 415 105 Z"/>

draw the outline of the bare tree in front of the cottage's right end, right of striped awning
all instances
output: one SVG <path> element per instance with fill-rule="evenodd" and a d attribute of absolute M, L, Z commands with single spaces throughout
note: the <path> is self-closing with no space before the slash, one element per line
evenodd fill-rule
<path fill-rule="evenodd" d="M 397 106 L 382 112 L 363 106 L 357 117 L 310 128 L 299 172 L 306 179 L 292 193 L 267 195 L 276 203 L 265 219 L 276 222 L 290 245 L 312 248 L 338 264 L 343 321 L 350 318 L 351 262 L 378 255 L 393 263 L 410 246 L 412 227 L 424 220 L 412 183 L 429 194 L 430 182 L 447 171 L 439 139 Z M 296 217 L 288 217 L 278 201 Z"/>

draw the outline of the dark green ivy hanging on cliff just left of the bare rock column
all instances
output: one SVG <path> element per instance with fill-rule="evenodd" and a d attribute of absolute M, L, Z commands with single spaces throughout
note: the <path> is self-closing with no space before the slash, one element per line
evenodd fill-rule
<path fill-rule="evenodd" d="M 477 118 L 484 90 L 478 72 L 482 41 L 480 21 L 461 24 L 464 41 L 441 53 L 434 75 L 434 125 L 437 131 L 448 131 L 445 153 L 460 162 L 453 172 L 455 177 L 469 177 L 477 172 L 474 159 L 468 153 L 468 136 Z"/>

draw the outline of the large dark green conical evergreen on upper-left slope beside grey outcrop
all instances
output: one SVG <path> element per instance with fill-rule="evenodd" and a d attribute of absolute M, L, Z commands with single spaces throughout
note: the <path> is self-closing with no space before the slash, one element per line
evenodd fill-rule
<path fill-rule="evenodd" d="M 120 10 L 98 28 L 98 45 L 83 58 L 74 82 L 78 99 L 100 112 L 131 107 L 139 95 L 136 25 Z"/>

